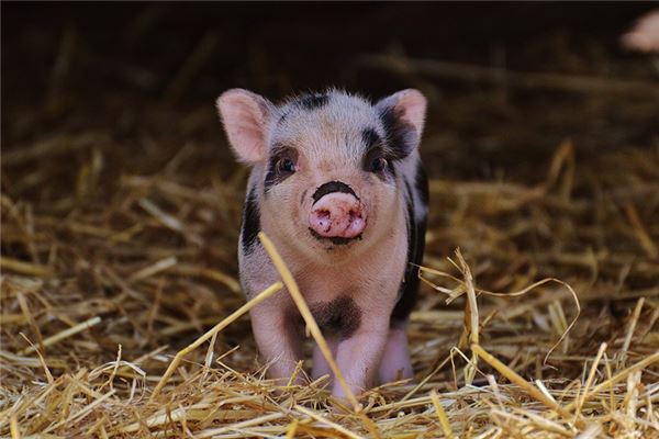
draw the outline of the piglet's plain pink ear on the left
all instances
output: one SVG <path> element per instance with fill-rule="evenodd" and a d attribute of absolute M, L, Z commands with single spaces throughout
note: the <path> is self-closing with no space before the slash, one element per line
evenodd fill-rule
<path fill-rule="evenodd" d="M 266 158 L 267 128 L 275 105 L 267 99 L 243 89 L 231 89 L 217 98 L 217 112 L 238 160 L 256 164 Z"/>

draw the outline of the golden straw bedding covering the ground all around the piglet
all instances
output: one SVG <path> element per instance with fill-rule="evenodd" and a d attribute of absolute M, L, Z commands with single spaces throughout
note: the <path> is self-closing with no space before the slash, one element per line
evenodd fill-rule
<path fill-rule="evenodd" d="M 409 67 L 423 87 L 436 80 Z M 561 85 L 540 87 L 570 97 L 543 114 L 499 86 L 431 113 L 416 380 L 358 406 L 332 401 L 322 379 L 269 381 L 235 313 L 247 173 L 213 97 L 174 110 L 114 95 L 63 111 L 55 90 L 46 105 L 14 108 L 2 151 L 0 434 L 659 437 L 656 100 Z M 103 116 L 90 122 L 96 105 Z M 56 128 L 26 134 L 53 117 Z M 491 148 L 500 166 L 474 178 Z"/>

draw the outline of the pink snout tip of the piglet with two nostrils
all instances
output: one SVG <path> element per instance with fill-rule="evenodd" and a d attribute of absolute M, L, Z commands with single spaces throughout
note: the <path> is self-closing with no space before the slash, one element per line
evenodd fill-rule
<path fill-rule="evenodd" d="M 313 204 L 309 226 L 324 238 L 356 238 L 366 227 L 366 210 L 355 195 L 332 192 Z"/>

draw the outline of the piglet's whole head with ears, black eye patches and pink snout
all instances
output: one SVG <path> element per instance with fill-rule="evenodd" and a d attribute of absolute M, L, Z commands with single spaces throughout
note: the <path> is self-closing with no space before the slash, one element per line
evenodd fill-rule
<path fill-rule="evenodd" d="M 249 193 L 257 209 L 250 212 L 279 243 L 316 261 L 330 260 L 328 252 L 346 260 L 396 232 L 393 219 L 405 212 L 405 159 L 425 117 L 418 91 L 373 104 L 330 90 L 275 105 L 234 89 L 217 108 L 238 159 L 254 167 Z"/>

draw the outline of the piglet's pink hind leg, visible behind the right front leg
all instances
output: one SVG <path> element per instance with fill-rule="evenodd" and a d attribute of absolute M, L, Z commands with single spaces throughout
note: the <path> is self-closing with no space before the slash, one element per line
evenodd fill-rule
<path fill-rule="evenodd" d="M 406 322 L 394 324 L 389 328 L 387 345 L 378 372 L 380 384 L 414 378 L 407 344 Z"/>

